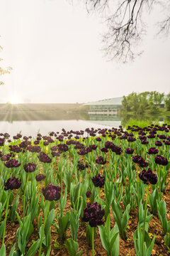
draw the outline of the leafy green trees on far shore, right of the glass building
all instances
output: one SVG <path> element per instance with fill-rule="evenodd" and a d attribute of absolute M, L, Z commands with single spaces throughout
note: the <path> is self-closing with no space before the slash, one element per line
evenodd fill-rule
<path fill-rule="evenodd" d="M 144 112 L 157 112 L 160 107 L 170 110 L 170 93 L 164 96 L 159 92 L 132 92 L 128 96 L 123 96 L 123 111 L 143 114 Z"/>

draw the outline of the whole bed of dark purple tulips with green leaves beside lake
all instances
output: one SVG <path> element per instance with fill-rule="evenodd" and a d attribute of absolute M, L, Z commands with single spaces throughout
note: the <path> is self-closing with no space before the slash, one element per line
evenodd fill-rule
<path fill-rule="evenodd" d="M 126 131 L 123 127 L 80 132 L 63 129 L 62 134 L 38 134 L 35 139 L 22 139 L 21 134 L 9 139 L 9 134 L 0 134 L 0 255 L 6 255 L 6 223 L 18 220 L 10 256 L 50 255 L 51 227 L 65 242 L 69 255 L 81 255 L 79 225 L 86 228 L 93 255 L 98 228 L 106 253 L 118 256 L 120 236 L 127 240 L 130 211 L 136 208 L 136 255 L 151 255 L 155 237 L 151 240 L 147 231 L 157 213 L 169 250 L 170 224 L 162 200 L 168 186 L 169 129 L 167 124 L 133 126 Z M 35 220 L 38 239 L 28 249 Z M 67 239 L 69 228 L 72 238 Z"/>

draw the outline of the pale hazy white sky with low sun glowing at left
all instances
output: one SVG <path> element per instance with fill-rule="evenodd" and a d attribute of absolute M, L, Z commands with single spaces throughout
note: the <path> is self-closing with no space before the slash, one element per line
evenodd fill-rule
<path fill-rule="evenodd" d="M 151 27 L 142 57 L 120 65 L 103 57 L 104 31 L 97 14 L 67 0 L 0 0 L 0 64 L 13 68 L 1 76 L 0 102 L 90 102 L 132 91 L 170 92 L 170 38 L 154 38 Z"/>

